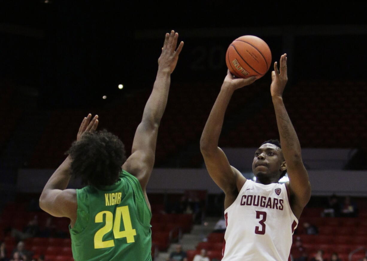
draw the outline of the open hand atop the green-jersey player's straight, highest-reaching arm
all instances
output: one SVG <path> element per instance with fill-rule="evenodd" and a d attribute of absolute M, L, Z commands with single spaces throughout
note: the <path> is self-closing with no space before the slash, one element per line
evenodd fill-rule
<path fill-rule="evenodd" d="M 177 65 L 178 55 L 180 54 L 183 41 L 178 45 L 177 49 L 177 38 L 178 33 L 174 30 L 171 33 L 166 33 L 166 38 L 164 38 L 164 44 L 162 47 L 162 53 L 158 59 L 158 65 L 160 70 L 167 70 L 172 73 Z"/>

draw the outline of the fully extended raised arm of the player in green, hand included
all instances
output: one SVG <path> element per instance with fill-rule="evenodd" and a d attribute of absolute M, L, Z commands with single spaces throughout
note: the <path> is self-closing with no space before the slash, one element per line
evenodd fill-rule
<path fill-rule="evenodd" d="M 157 143 L 158 127 L 166 109 L 171 73 L 176 67 L 178 55 L 183 47 L 181 42 L 176 50 L 178 33 L 173 30 L 166 34 L 162 53 L 158 59 L 158 72 L 153 91 L 145 105 L 143 118 L 132 143 L 131 156 L 122 168 L 139 180 L 143 191 L 152 173 Z"/>

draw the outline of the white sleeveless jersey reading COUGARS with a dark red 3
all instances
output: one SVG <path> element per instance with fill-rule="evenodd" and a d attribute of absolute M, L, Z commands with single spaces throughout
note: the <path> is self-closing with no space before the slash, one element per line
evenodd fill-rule
<path fill-rule="evenodd" d="M 298 220 L 285 184 L 247 180 L 224 216 L 222 261 L 288 260 Z"/>

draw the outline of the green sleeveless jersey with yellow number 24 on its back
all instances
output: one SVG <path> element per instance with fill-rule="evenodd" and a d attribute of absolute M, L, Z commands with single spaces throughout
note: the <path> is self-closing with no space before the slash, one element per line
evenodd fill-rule
<path fill-rule="evenodd" d="M 152 214 L 136 177 L 123 170 L 115 184 L 76 195 L 77 219 L 69 227 L 75 261 L 152 260 Z"/>

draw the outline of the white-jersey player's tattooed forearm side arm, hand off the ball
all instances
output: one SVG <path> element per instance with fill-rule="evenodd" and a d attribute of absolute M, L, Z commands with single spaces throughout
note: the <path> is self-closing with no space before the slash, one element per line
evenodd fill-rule
<path fill-rule="evenodd" d="M 274 63 L 270 92 L 280 135 L 281 150 L 287 163 L 288 187 L 294 198 L 292 208 L 295 214 L 301 215 L 302 209 L 310 199 L 311 185 L 302 162 L 301 145 L 283 103 L 283 91 L 287 81 L 287 54 L 283 54 L 280 57 L 280 70 L 278 70 L 277 62 Z"/>

